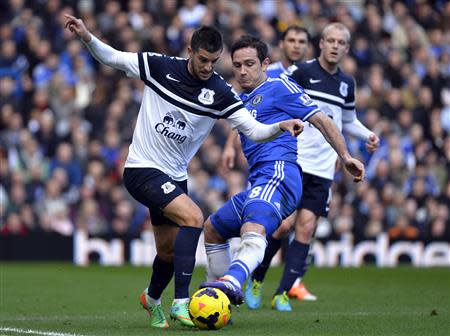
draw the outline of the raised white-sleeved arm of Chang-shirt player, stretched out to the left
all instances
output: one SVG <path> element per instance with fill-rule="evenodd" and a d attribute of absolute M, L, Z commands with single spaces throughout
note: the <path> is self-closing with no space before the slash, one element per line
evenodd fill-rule
<path fill-rule="evenodd" d="M 129 75 L 139 77 L 139 64 L 135 53 L 127 53 L 110 47 L 92 35 L 84 25 L 83 20 L 69 14 L 64 14 L 64 16 L 66 18 L 64 28 L 75 33 L 97 61 L 125 71 Z"/>

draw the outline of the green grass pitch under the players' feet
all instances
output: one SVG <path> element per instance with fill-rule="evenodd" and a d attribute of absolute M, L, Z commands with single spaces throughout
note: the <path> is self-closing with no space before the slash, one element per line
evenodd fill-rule
<path fill-rule="evenodd" d="M 282 269 L 269 271 L 262 309 L 233 308 L 219 331 L 149 327 L 138 296 L 148 267 L 0 264 L 0 335 L 450 335 L 449 268 L 311 268 L 305 281 L 317 302 L 270 309 Z M 204 277 L 197 268 L 191 292 Z M 167 316 L 173 283 L 163 298 Z"/>

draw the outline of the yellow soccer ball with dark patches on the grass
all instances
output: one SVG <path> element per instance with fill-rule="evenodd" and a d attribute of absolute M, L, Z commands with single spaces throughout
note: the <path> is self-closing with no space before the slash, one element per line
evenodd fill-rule
<path fill-rule="evenodd" d="M 199 289 L 191 297 L 189 315 L 199 329 L 220 329 L 230 320 L 230 300 L 220 289 Z"/>

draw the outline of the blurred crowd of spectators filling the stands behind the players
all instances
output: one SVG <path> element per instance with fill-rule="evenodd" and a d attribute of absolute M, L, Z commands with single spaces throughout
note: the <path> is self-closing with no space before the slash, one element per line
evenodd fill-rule
<path fill-rule="evenodd" d="M 92 59 L 63 29 L 83 18 L 116 49 L 186 56 L 200 25 L 218 27 L 226 47 L 217 71 L 230 83 L 228 48 L 261 37 L 271 60 L 292 24 L 311 34 L 341 21 L 352 32 L 343 70 L 357 82 L 359 119 L 381 138 L 368 155 L 347 137 L 367 177 L 338 170 L 328 219 L 317 235 L 355 240 L 450 241 L 450 2 L 444 0 L 5 0 L 0 3 L 0 234 L 84 229 L 96 236 L 151 230 L 148 210 L 122 185 L 143 83 Z M 220 121 L 190 165 L 190 195 L 205 216 L 246 186 L 246 162 L 225 174 Z"/>

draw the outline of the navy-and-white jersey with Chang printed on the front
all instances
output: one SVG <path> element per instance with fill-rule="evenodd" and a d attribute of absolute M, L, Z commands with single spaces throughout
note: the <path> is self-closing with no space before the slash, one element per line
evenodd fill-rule
<path fill-rule="evenodd" d="M 121 53 L 122 70 L 145 89 L 125 167 L 156 168 L 187 179 L 189 161 L 219 118 L 248 112 L 224 79 L 194 78 L 188 60 L 156 53 Z M 233 116 L 233 119 L 236 116 Z"/>

